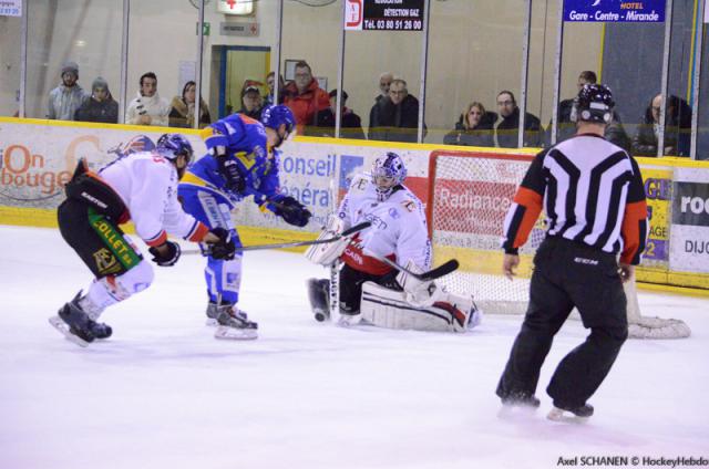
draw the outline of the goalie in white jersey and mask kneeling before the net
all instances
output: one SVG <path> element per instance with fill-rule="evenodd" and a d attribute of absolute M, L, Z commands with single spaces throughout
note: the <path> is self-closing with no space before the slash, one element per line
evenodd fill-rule
<path fill-rule="evenodd" d="M 405 177 L 399 155 L 389 152 L 379 157 L 371 173 L 352 179 L 320 238 L 331 238 L 362 221 L 371 227 L 306 252 L 310 261 L 331 269 L 330 280 L 308 280 L 318 321 L 337 311 L 340 325 L 362 322 L 389 329 L 465 332 L 480 323 L 472 296 L 448 293 L 434 280 L 419 275 L 431 268 L 431 241 L 423 205 L 403 185 Z"/>

